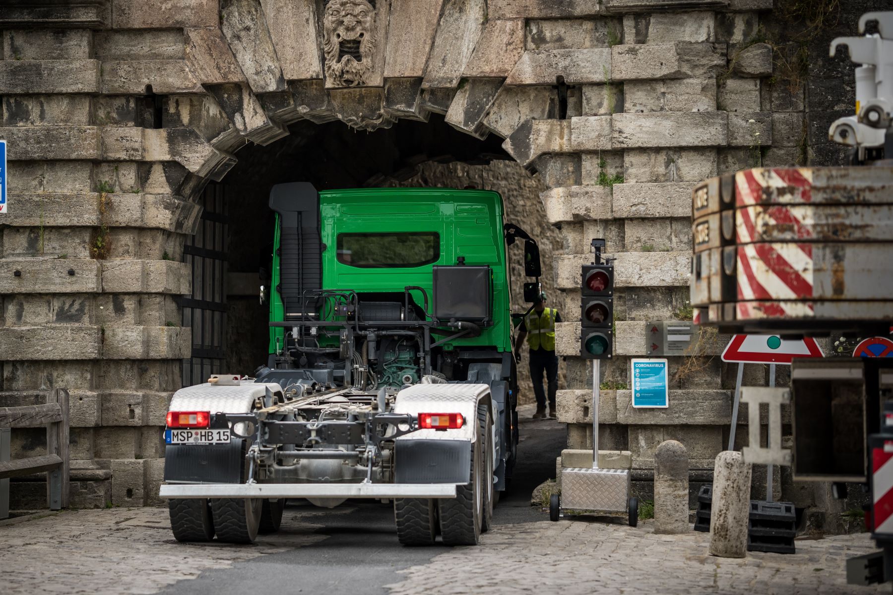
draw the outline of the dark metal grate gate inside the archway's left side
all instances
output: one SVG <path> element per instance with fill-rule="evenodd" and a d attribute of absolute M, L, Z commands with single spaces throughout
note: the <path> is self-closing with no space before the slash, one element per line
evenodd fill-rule
<path fill-rule="evenodd" d="M 225 187 L 211 184 L 196 235 L 183 247 L 192 269 L 192 295 L 180 299 L 183 326 L 192 327 L 192 357 L 183 359 L 183 386 L 207 382 L 226 363 L 227 216 Z"/>

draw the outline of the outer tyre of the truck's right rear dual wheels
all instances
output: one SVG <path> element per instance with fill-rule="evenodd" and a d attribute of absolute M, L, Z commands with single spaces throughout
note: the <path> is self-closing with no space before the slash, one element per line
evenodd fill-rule
<path fill-rule="evenodd" d="M 483 513 L 481 437 L 472 443 L 469 482 L 455 486 L 455 498 L 438 500 L 440 534 L 446 545 L 477 545 L 480 542 L 480 517 Z"/>

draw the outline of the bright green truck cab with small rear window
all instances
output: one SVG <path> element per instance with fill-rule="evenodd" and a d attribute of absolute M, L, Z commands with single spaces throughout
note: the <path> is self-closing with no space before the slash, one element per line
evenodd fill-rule
<path fill-rule="evenodd" d="M 274 186 L 270 206 L 270 349 L 257 376 L 366 392 L 489 384 L 504 489 L 518 440 L 508 245 L 522 240 L 525 273 L 540 272 L 536 241 L 505 224 L 502 197 L 293 183 Z"/>

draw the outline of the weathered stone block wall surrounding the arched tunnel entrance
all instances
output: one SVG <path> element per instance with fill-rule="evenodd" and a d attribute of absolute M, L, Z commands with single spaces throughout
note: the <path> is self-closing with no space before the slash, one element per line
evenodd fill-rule
<path fill-rule="evenodd" d="M 642 478 L 670 438 L 693 469 L 712 467 L 730 422 L 730 375 L 712 357 L 721 342 L 694 364 L 673 359 L 673 373 L 688 372 L 671 409 L 632 409 L 622 384 L 627 359 L 644 354 L 645 320 L 685 315 L 692 186 L 798 158 L 803 89 L 769 84 L 772 49 L 753 43 L 771 9 L 772 0 L 7 0 L 3 401 L 70 388 L 74 504 L 155 503 L 160 426 L 190 349 L 177 302 L 190 293 L 182 246 L 204 186 L 238 149 L 273 143 L 297 120 L 371 130 L 436 112 L 472 136 L 505 137 L 548 188 L 547 219 L 564 242 L 555 285 L 568 320 L 557 335 L 569 447 L 591 441 L 573 315 L 580 264 L 600 236 L 622 288 L 617 357 L 605 371 L 620 388 L 603 393 L 602 447 L 631 450 Z M 755 382 L 762 374 L 748 371 Z M 40 448 L 37 434 L 19 436 L 16 455 Z"/>

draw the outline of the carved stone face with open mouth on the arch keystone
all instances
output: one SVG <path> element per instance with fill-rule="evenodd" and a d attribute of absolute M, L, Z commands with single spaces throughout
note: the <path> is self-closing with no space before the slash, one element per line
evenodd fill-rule
<path fill-rule="evenodd" d="M 375 9 L 366 0 L 331 0 L 322 18 L 327 84 L 361 87 L 373 67 Z"/>

